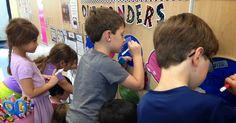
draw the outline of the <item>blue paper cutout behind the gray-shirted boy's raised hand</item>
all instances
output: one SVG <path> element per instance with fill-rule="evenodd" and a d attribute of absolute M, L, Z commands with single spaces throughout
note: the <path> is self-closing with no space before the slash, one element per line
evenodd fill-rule
<path fill-rule="evenodd" d="M 118 54 L 118 60 L 123 56 L 132 57 L 130 52 L 129 52 L 129 48 L 128 48 L 128 42 L 129 41 L 135 41 L 135 42 L 140 44 L 139 40 L 136 37 L 134 37 L 133 35 L 126 35 L 125 36 L 125 43 L 122 46 L 120 53 Z M 143 53 L 143 51 L 142 51 L 142 53 Z M 133 61 L 129 61 L 128 65 L 133 67 L 134 66 Z"/>

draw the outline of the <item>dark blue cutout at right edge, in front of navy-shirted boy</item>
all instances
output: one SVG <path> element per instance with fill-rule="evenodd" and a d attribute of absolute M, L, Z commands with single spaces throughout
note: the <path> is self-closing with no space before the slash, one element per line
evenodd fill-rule
<path fill-rule="evenodd" d="M 207 74 L 206 79 L 200 87 L 205 90 L 206 93 L 222 97 L 236 106 L 235 95 L 228 90 L 220 92 L 220 88 L 224 86 L 225 78 L 236 73 L 236 61 L 223 57 L 215 57 L 212 60 L 213 69 Z"/>

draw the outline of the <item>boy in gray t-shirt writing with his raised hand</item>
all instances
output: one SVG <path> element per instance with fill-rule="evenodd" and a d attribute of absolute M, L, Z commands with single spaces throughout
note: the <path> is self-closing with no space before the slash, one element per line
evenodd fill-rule
<path fill-rule="evenodd" d="M 120 51 L 124 43 L 124 27 L 123 18 L 109 8 L 97 8 L 87 18 L 85 31 L 94 43 L 94 49 L 80 59 L 67 122 L 97 123 L 101 106 L 115 97 L 118 84 L 133 90 L 143 89 L 144 69 L 138 43 L 128 43 L 134 62 L 132 75 L 109 57 Z"/>

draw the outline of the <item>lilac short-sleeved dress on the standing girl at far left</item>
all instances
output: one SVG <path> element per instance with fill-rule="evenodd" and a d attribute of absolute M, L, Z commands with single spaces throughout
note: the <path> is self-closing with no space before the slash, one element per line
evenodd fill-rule
<path fill-rule="evenodd" d="M 45 80 L 35 63 L 14 53 L 11 56 L 11 72 L 17 82 L 22 79 L 32 78 L 36 88 L 45 84 Z M 21 84 L 18 84 L 22 89 Z M 27 96 L 24 90 L 22 90 L 22 95 Z M 32 98 L 32 101 L 34 103 L 34 123 L 50 123 L 53 107 L 49 100 L 49 92 L 46 91 Z"/>

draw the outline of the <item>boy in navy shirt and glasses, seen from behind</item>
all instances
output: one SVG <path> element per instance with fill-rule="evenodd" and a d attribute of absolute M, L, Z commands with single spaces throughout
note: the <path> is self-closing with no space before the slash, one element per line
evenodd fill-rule
<path fill-rule="evenodd" d="M 138 123 L 236 123 L 236 111 L 224 100 L 192 90 L 219 48 L 210 27 L 183 13 L 159 24 L 153 38 L 162 73 L 138 105 Z"/>

